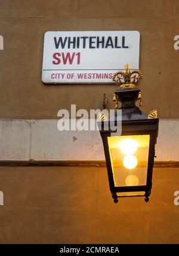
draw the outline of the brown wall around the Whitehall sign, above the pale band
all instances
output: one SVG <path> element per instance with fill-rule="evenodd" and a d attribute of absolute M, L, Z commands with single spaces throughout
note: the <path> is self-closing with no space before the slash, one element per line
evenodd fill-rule
<path fill-rule="evenodd" d="M 138 30 L 143 110 L 178 118 L 177 0 L 1 0 L 0 118 L 57 118 L 61 108 L 101 108 L 112 85 L 45 86 L 41 81 L 45 31 Z M 114 107 L 110 100 L 109 108 Z"/>

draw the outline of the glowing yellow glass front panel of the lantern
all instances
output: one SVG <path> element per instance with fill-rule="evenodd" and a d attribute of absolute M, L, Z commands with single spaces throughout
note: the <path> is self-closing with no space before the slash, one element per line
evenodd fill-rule
<path fill-rule="evenodd" d="M 107 137 L 115 187 L 146 185 L 150 135 Z"/>

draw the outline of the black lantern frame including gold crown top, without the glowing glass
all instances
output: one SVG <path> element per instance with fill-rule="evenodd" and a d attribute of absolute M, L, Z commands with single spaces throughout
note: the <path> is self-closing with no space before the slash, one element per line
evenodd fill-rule
<path fill-rule="evenodd" d="M 134 77 L 134 74 L 138 74 Z M 121 77 L 121 75 L 123 77 Z M 116 79 L 117 78 L 117 79 Z M 149 201 L 149 196 L 152 190 L 152 174 L 153 174 L 153 162 L 155 157 L 155 144 L 158 137 L 158 124 L 159 118 L 157 118 L 156 109 L 151 111 L 147 116 L 135 105 L 137 100 L 141 103 L 140 89 L 137 87 L 138 81 L 142 78 L 142 74 L 139 70 L 130 71 L 129 65 L 125 66 L 124 72 L 118 71 L 113 75 L 113 81 L 119 85 L 119 89 L 115 90 L 113 100 L 116 100 L 116 108 L 118 108 L 118 102 L 121 102 L 122 112 L 122 132 L 121 136 L 132 135 L 149 135 L 149 154 L 147 161 L 147 178 L 146 185 L 134 185 L 134 186 L 115 186 L 114 175 L 112 170 L 112 163 L 110 159 L 109 144 L 107 138 L 114 135 L 113 129 L 118 125 L 117 112 L 113 118 L 109 118 L 109 121 L 101 121 L 100 123 L 100 135 L 103 140 L 104 154 L 106 158 L 107 174 L 109 179 L 110 192 L 115 203 L 118 202 L 118 197 L 134 197 L 144 196 L 145 201 Z M 124 79 L 122 81 L 122 79 Z M 106 129 L 108 127 L 108 129 Z M 131 196 L 118 196 L 117 193 L 125 192 L 144 192 L 143 195 L 131 195 Z"/>

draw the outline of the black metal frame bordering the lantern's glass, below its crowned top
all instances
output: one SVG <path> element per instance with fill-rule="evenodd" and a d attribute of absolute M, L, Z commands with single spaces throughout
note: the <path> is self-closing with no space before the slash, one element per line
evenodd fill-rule
<path fill-rule="evenodd" d="M 149 201 L 149 196 L 152 190 L 152 173 L 153 173 L 153 161 L 155 157 L 155 144 L 156 138 L 158 135 L 158 118 L 149 119 L 149 120 L 132 120 L 132 121 L 124 121 L 122 122 L 122 133 L 121 136 L 129 136 L 129 135 L 150 135 L 149 141 L 149 156 L 147 162 L 147 181 L 146 185 L 137 185 L 137 186 L 125 186 L 125 187 L 116 187 L 115 181 L 113 177 L 112 163 L 110 160 L 109 153 L 109 144 L 107 141 L 107 137 L 111 136 L 111 132 L 103 129 L 100 130 L 101 138 L 103 140 L 104 154 L 106 158 L 106 167 L 107 174 L 109 179 L 109 187 L 112 193 L 112 197 L 114 202 L 118 202 L 118 197 L 126 197 L 126 196 L 117 196 L 116 193 L 119 192 L 137 192 L 144 191 L 146 202 Z"/>

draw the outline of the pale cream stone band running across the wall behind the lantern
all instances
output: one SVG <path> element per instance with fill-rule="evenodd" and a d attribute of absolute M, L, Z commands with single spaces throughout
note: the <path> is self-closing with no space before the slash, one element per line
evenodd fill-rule
<path fill-rule="evenodd" d="M 58 120 L 0 120 L 0 160 L 104 160 L 98 131 L 60 132 Z M 179 119 L 159 120 L 157 161 L 179 161 Z"/>

